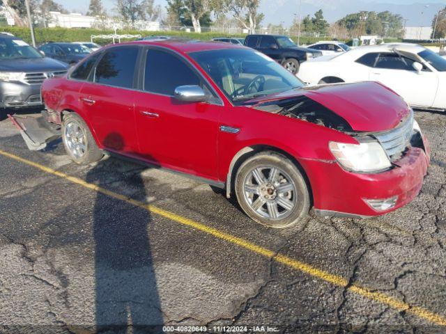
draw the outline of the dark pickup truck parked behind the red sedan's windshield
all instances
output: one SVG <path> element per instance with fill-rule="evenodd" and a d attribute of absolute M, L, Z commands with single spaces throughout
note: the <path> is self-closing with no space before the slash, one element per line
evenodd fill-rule
<path fill-rule="evenodd" d="M 263 52 L 292 74 L 299 72 L 304 61 L 322 56 L 321 51 L 298 47 L 291 38 L 281 35 L 248 35 L 245 46 Z"/>

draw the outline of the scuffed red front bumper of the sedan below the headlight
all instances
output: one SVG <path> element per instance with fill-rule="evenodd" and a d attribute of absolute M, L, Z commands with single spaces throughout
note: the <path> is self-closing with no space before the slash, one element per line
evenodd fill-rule
<path fill-rule="evenodd" d="M 306 161 L 314 196 L 314 209 L 321 216 L 367 218 L 392 212 L 408 204 L 422 188 L 429 166 L 429 143 L 410 148 L 392 170 L 376 174 L 350 173 L 336 162 Z M 396 205 L 385 211 L 372 209 L 365 199 L 398 196 Z"/>

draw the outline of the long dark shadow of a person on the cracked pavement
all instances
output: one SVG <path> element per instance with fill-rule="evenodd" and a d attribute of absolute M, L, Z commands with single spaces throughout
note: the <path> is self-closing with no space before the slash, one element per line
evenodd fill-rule
<path fill-rule="evenodd" d="M 116 140 L 116 134 L 114 134 Z M 107 188 L 100 161 L 86 177 Z M 145 193 L 139 172 L 132 187 Z M 95 319 L 100 333 L 162 333 L 160 298 L 148 236 L 150 212 L 98 193 L 93 213 Z"/>

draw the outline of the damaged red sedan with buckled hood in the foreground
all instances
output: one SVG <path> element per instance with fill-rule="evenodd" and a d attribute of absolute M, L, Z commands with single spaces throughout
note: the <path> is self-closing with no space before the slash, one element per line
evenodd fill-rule
<path fill-rule="evenodd" d="M 236 45 L 112 45 L 42 92 L 77 164 L 107 151 L 184 173 L 235 193 L 248 216 L 274 228 L 312 205 L 323 216 L 390 212 L 417 196 L 429 163 L 413 111 L 392 90 L 307 88 Z"/>

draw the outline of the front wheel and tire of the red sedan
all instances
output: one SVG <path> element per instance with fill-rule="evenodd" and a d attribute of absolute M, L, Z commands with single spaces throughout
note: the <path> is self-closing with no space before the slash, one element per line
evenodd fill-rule
<path fill-rule="evenodd" d="M 272 170 L 277 173 L 271 175 Z M 302 173 L 276 152 L 260 152 L 243 162 L 235 191 L 243 211 L 270 228 L 296 225 L 309 212 L 309 191 Z"/>

